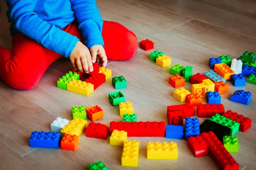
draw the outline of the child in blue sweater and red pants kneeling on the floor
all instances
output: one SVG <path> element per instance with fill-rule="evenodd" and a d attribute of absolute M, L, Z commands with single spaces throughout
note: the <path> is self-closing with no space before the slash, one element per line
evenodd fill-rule
<path fill-rule="evenodd" d="M 0 47 L 0 78 L 12 88 L 35 87 L 61 57 L 88 73 L 94 62 L 106 67 L 108 59 L 131 59 L 137 51 L 135 34 L 119 23 L 103 21 L 95 0 L 6 3 L 13 47 Z"/>

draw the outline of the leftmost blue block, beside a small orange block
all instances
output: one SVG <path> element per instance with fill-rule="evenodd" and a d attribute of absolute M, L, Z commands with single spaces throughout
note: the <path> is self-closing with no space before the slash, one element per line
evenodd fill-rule
<path fill-rule="evenodd" d="M 60 139 L 61 133 L 59 132 L 33 131 L 29 139 L 29 146 L 59 148 Z"/>

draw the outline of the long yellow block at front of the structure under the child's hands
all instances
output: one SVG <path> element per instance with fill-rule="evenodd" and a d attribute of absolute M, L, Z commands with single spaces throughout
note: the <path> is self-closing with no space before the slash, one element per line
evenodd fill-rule
<path fill-rule="evenodd" d="M 73 79 L 67 84 L 67 90 L 89 96 L 94 91 L 93 84 Z"/>

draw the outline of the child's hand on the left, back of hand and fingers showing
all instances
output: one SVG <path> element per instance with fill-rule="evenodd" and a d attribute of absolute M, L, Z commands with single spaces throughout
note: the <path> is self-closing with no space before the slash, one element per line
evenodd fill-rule
<path fill-rule="evenodd" d="M 76 47 L 73 49 L 72 54 L 70 55 L 70 61 L 73 68 L 76 70 L 78 69 L 79 71 L 85 71 L 85 73 L 93 71 L 93 63 L 90 51 L 80 41 L 77 42 Z"/>

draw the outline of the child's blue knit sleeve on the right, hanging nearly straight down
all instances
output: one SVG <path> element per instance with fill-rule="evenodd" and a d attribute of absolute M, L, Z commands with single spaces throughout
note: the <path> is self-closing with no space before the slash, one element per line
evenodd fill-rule
<path fill-rule="evenodd" d="M 103 45 L 103 20 L 95 0 L 70 0 L 79 29 L 84 38 L 84 45 L 90 50 L 93 45 Z"/>

